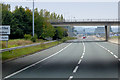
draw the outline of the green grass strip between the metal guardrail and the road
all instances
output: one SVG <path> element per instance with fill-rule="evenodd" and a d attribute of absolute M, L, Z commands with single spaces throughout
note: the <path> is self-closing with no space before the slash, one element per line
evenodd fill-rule
<path fill-rule="evenodd" d="M 25 55 L 33 54 L 35 52 L 50 48 L 52 46 L 58 45 L 64 41 L 66 41 L 66 40 L 71 40 L 71 39 L 75 39 L 75 38 L 67 37 L 67 38 L 63 38 L 62 40 L 56 41 L 56 42 L 51 42 L 51 43 L 47 43 L 47 44 L 41 43 L 40 45 L 37 45 L 37 46 L 6 51 L 6 52 L 2 53 L 2 60 L 5 61 L 5 60 L 14 59 L 14 58 L 22 57 Z"/>

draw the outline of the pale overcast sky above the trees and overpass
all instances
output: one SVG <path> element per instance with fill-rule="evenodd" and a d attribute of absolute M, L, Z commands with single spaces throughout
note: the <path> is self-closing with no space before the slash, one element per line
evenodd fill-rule
<path fill-rule="evenodd" d="M 88 0 L 35 0 L 35 8 L 38 8 L 38 10 L 47 9 L 50 12 L 63 14 L 66 19 L 118 18 L 118 0 L 97 1 L 99 0 L 89 0 L 89 2 Z M 14 0 L 6 0 L 4 3 L 10 4 L 11 10 L 14 10 L 15 6 L 32 9 L 30 0 L 16 0 L 15 2 Z"/>

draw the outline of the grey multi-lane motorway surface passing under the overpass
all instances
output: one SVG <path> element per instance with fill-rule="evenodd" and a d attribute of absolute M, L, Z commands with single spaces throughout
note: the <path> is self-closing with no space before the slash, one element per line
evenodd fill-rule
<path fill-rule="evenodd" d="M 118 45 L 88 36 L 3 63 L 6 80 L 119 80 Z"/>

